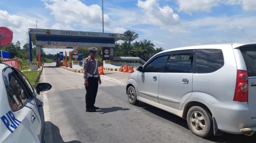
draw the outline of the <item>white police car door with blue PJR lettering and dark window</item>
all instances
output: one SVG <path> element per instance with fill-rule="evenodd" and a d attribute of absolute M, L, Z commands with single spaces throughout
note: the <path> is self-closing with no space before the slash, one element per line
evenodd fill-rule
<path fill-rule="evenodd" d="M 3 77 L 10 111 L 1 116 L 1 130 L 2 127 L 6 127 L 6 130 L 2 134 L 4 136 L 1 135 L 0 142 L 40 143 L 41 125 L 35 101 L 25 86 L 26 83 L 11 67 L 3 70 Z"/>

